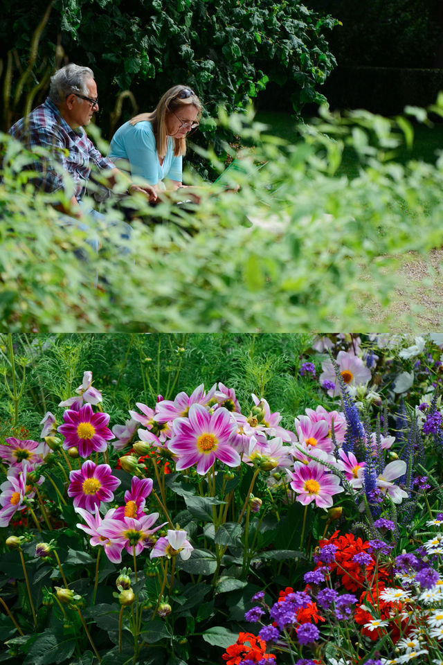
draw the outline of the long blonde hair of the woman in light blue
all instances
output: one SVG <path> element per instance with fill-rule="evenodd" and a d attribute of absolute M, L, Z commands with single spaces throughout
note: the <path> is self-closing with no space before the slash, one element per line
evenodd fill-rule
<path fill-rule="evenodd" d="M 183 94 L 181 97 L 180 95 Z M 187 95 L 186 97 L 184 95 Z M 135 125 L 140 121 L 147 120 L 152 123 L 152 130 L 155 136 L 156 148 L 160 157 L 165 157 L 168 152 L 168 132 L 166 130 L 166 114 L 168 112 L 176 113 L 177 109 L 183 106 L 195 106 L 198 111 L 197 122 L 201 117 L 201 103 L 195 92 L 188 85 L 174 85 L 161 97 L 156 108 L 151 113 L 141 113 L 132 118 L 129 123 Z M 186 154 L 186 136 L 174 140 L 174 157 Z"/>

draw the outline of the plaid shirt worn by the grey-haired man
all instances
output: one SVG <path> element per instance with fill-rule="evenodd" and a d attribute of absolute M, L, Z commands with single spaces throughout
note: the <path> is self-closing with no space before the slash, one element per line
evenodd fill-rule
<path fill-rule="evenodd" d="M 35 145 L 50 148 L 58 165 L 39 159 L 32 166 L 42 174 L 37 177 L 37 184 L 48 192 L 63 187 L 62 173 L 67 171 L 74 182 L 73 195 L 80 201 L 91 175 L 91 167 L 115 168 L 114 162 L 102 157 L 94 148 L 83 127 L 73 130 L 49 98 L 29 114 L 26 122 L 25 118 L 21 118 L 12 125 L 9 133 L 30 149 Z"/>

